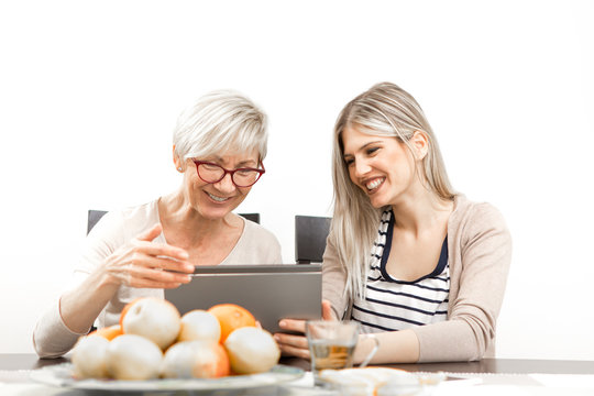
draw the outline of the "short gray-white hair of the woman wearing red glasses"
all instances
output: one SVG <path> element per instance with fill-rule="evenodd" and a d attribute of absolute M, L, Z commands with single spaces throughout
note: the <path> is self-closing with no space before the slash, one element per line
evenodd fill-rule
<path fill-rule="evenodd" d="M 173 141 L 180 160 L 226 151 L 257 150 L 266 157 L 266 114 L 245 96 L 232 90 L 205 95 L 177 119 Z"/>

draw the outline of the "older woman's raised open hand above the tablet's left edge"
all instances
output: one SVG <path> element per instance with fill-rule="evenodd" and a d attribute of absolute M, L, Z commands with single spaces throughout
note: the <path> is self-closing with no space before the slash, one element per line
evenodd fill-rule
<path fill-rule="evenodd" d="M 111 254 L 103 270 L 116 283 L 132 287 L 174 288 L 191 280 L 194 265 L 180 248 L 153 242 L 162 232 L 155 224 Z"/>

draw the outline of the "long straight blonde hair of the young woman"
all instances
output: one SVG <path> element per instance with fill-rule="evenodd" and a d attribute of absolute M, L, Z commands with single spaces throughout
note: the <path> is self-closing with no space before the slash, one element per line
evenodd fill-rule
<path fill-rule="evenodd" d="M 394 136 L 413 152 L 409 140 L 419 131 L 427 136 L 428 153 L 418 169 L 427 187 L 441 199 L 454 197 L 438 142 L 425 113 L 415 98 L 392 82 L 371 87 L 350 101 L 334 125 L 332 178 L 334 213 L 330 240 L 337 246 L 339 261 L 346 272 L 345 295 L 365 295 L 371 248 L 377 235 L 384 208 L 371 205 L 366 194 L 351 182 L 343 158 L 342 131 L 358 128 L 363 133 Z"/>

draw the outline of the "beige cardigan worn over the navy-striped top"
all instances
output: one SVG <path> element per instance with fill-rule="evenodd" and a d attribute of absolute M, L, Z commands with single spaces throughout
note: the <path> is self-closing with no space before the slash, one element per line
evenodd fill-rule
<path fill-rule="evenodd" d="M 496 320 L 512 261 L 512 238 L 497 209 L 457 196 L 448 221 L 448 320 L 411 329 L 419 340 L 419 362 L 493 356 Z M 330 239 L 322 275 L 323 298 L 340 318 L 350 308 L 343 296 L 346 274 Z"/>

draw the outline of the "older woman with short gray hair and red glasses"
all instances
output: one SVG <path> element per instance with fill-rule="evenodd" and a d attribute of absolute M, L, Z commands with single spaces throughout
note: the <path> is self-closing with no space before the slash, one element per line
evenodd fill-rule
<path fill-rule="evenodd" d="M 239 94 L 215 91 L 180 114 L 173 140 L 182 185 L 92 229 L 75 286 L 36 324 L 40 356 L 66 353 L 94 323 L 117 323 L 138 297 L 163 298 L 190 282 L 195 265 L 282 262 L 277 239 L 232 212 L 265 172 L 265 114 Z"/>

